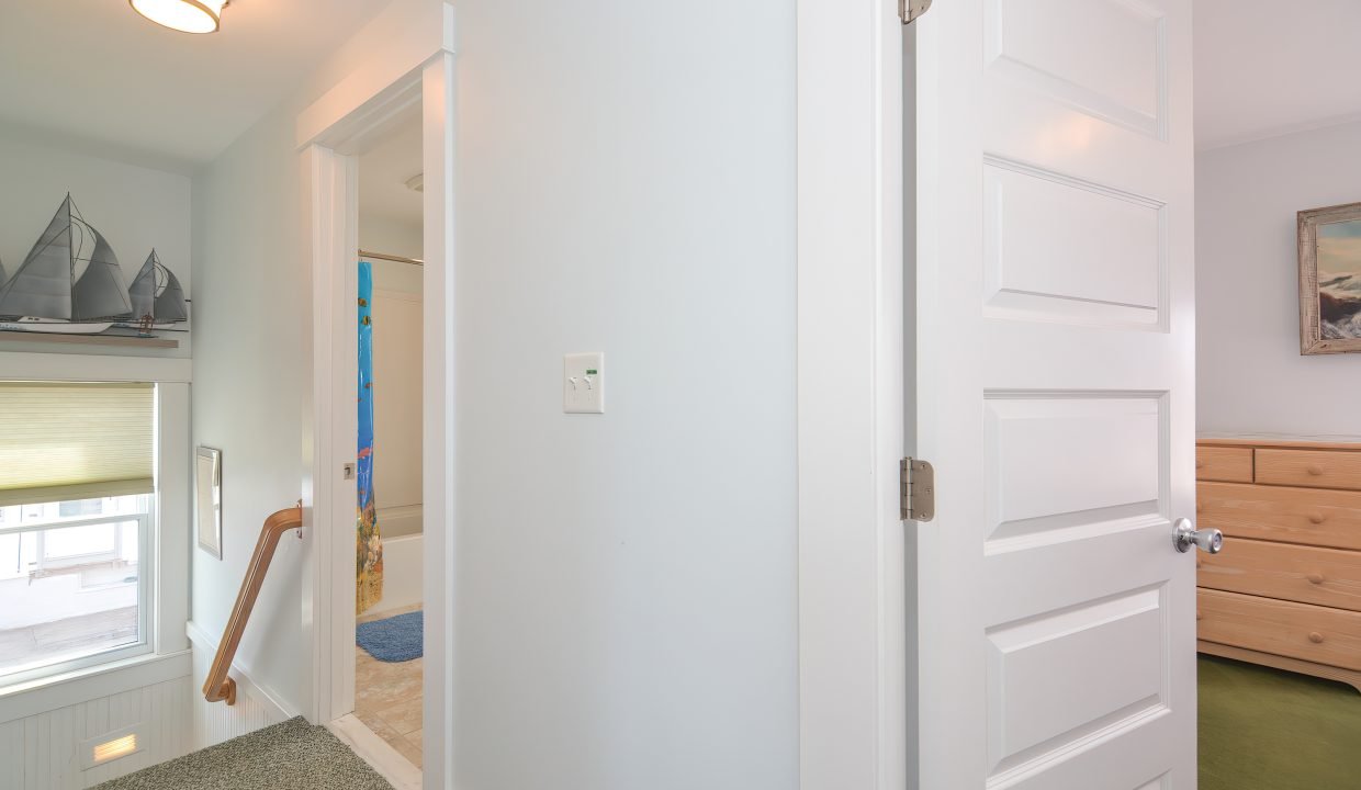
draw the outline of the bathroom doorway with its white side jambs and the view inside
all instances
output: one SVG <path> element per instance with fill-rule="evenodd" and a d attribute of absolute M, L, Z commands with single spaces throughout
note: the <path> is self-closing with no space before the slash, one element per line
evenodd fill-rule
<path fill-rule="evenodd" d="M 309 718 L 399 790 L 442 787 L 449 771 L 448 749 L 423 759 L 422 746 L 445 742 L 452 718 L 446 604 L 453 543 L 444 484 L 455 405 L 452 91 L 453 56 L 440 52 L 366 97 L 347 92 L 340 107 L 323 98 L 298 117 L 313 299 L 305 413 L 312 475 L 304 485 L 314 528 L 304 604 L 313 646 Z M 395 230 L 393 222 L 406 227 Z M 366 371 L 367 383 L 377 385 L 369 453 L 359 449 L 357 409 L 357 393 L 369 392 L 359 378 L 362 317 L 370 321 L 369 351 L 377 352 Z M 387 390 L 380 375 L 391 379 Z M 363 460 L 372 466 L 363 469 Z M 362 483 L 373 506 L 366 518 L 358 517 L 362 475 L 369 475 Z M 377 536 L 363 529 L 374 521 Z M 392 617 L 404 619 L 399 636 L 407 647 L 387 655 L 397 661 L 376 655 L 391 653 L 391 630 L 370 650 L 357 647 L 366 621 Z M 357 664 L 365 672 L 357 673 Z"/>

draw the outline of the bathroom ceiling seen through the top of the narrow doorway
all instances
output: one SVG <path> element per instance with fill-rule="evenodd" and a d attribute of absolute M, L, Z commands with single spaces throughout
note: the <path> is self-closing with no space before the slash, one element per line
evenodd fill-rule
<path fill-rule="evenodd" d="M 421 106 L 393 121 L 391 129 L 359 155 L 359 213 L 421 227 L 422 193 L 407 186 L 421 173 Z"/>

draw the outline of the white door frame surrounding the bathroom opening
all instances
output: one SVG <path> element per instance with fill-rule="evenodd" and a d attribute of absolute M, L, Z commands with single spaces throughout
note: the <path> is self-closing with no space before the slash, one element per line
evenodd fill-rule
<path fill-rule="evenodd" d="M 304 402 L 304 526 L 310 556 L 302 623 L 313 670 L 313 723 L 354 710 L 354 513 L 358 166 L 357 154 L 395 118 L 421 107 L 423 190 L 423 737 L 448 745 L 453 726 L 453 8 L 442 1 L 384 12 L 355 39 L 355 69 L 297 118 L 301 254 L 310 302 Z M 452 786 L 450 749 L 429 749 L 425 787 Z"/>

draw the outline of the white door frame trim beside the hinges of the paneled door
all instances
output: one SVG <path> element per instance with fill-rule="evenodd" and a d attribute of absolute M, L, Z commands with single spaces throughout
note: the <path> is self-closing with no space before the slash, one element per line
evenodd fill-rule
<path fill-rule="evenodd" d="M 904 30 L 798 0 L 799 776 L 915 787 L 904 400 Z M 911 714 L 911 715 L 909 715 Z"/>

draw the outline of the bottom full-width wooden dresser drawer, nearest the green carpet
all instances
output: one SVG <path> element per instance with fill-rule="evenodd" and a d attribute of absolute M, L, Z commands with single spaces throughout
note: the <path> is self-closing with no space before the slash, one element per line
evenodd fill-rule
<path fill-rule="evenodd" d="M 1361 613 L 1196 590 L 1200 639 L 1361 670 Z"/>

